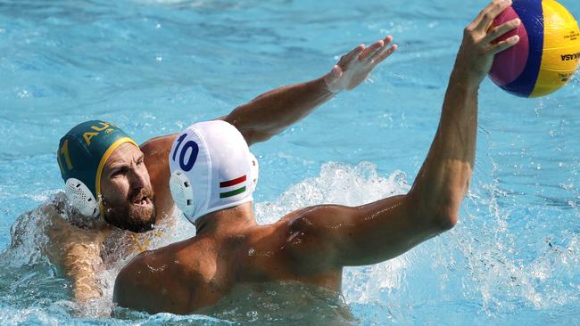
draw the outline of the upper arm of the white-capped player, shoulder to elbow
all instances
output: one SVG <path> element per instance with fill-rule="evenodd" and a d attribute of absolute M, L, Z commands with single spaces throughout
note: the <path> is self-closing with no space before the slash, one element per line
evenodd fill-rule
<path fill-rule="evenodd" d="M 444 231 L 429 216 L 418 216 L 409 195 L 360 207 L 311 208 L 291 222 L 295 237 L 323 250 L 300 250 L 315 261 L 334 265 L 370 265 L 397 257 Z"/>

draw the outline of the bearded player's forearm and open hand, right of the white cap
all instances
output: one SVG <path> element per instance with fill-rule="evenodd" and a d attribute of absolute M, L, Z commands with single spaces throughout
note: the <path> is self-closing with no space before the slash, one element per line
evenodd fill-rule
<path fill-rule="evenodd" d="M 282 86 L 237 107 L 226 117 L 244 135 L 248 145 L 264 142 L 309 115 L 336 93 L 359 86 L 378 63 L 396 50 L 393 37 L 345 54 L 325 76 L 306 83 Z"/>

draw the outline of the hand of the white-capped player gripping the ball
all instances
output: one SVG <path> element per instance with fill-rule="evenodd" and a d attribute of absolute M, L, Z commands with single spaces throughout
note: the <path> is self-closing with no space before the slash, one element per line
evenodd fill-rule
<path fill-rule="evenodd" d="M 517 35 L 500 42 L 497 42 L 497 39 L 510 30 L 516 29 L 521 23 L 519 19 L 510 20 L 490 29 L 493 20 L 510 5 L 511 0 L 493 0 L 465 28 L 460 52 L 455 61 L 455 69 L 462 73 L 462 78 L 467 78 L 464 81 L 478 86 L 492 69 L 495 54 L 518 44 L 519 37 Z"/>

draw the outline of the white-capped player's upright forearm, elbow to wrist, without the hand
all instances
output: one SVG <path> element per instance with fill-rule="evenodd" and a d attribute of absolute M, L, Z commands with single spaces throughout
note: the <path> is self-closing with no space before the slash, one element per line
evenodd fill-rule
<path fill-rule="evenodd" d="M 468 80 L 453 70 L 435 139 L 410 192 L 418 214 L 445 224 L 456 222 L 475 162 L 479 84 Z"/>

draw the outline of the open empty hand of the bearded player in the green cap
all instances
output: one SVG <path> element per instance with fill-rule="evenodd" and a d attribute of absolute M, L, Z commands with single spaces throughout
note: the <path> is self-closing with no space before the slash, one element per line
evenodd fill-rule
<path fill-rule="evenodd" d="M 335 67 L 324 76 L 328 90 L 338 93 L 359 86 L 369 77 L 370 71 L 377 67 L 377 64 L 396 51 L 397 45 L 389 46 L 391 42 L 393 37 L 388 36 L 369 47 L 359 45 L 350 53 L 344 54 Z"/>

